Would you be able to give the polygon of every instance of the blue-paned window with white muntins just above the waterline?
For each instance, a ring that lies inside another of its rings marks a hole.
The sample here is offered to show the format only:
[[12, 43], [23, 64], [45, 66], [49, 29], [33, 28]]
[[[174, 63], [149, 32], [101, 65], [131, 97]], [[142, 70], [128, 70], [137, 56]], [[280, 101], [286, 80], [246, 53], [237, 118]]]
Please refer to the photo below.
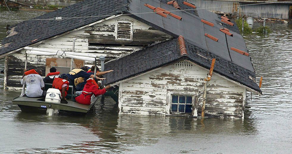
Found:
[[191, 113], [193, 97], [186, 95], [172, 95], [170, 104], [170, 111], [173, 113]]

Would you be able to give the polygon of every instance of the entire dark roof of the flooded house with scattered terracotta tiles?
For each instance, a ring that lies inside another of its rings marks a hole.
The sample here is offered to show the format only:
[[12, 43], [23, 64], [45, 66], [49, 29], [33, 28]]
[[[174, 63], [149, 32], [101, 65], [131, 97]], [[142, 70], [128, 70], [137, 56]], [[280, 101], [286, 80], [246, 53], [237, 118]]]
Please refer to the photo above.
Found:
[[[194, 9], [194, 5], [184, 4], [183, 0], [175, 1], [176, 4], [173, 3], [174, 1], [168, 2], [166, 0], [85, 0], [34, 18], [62, 17], [62, 21], [24, 21], [14, 25], [14, 28], [10, 27], [9, 37], [2, 41], [0, 55], [53, 38], [110, 15], [126, 14], [171, 35], [173, 38], [182, 35], [186, 41], [188, 55], [179, 55], [177, 39], [146, 47], [114, 62], [107, 63], [106, 68], [115, 71], [106, 75], [106, 83], [114, 83], [179, 59], [191, 60], [208, 69], [211, 64], [210, 59], [216, 58], [215, 72], [260, 92], [260, 88], [255, 82], [255, 70], [251, 58], [248, 56], [246, 44], [234, 22], [222, 21], [221, 16], [205, 9], [186, 10]], [[179, 11], [177, 7], [186, 11]], [[161, 10], [166, 12], [161, 13]], [[160, 13], [150, 13], [156, 11]], [[97, 17], [86, 18], [86, 16]], [[69, 17], [84, 18], [64, 19]], [[223, 32], [222, 28], [227, 29], [224, 29], [226, 31]], [[147, 60], [141, 59], [142, 57]], [[131, 60], [131, 58], [134, 59]], [[157, 58], [161, 58], [161, 60], [156, 60]], [[154, 61], [150, 61], [151, 59]], [[127, 64], [127, 60], [135, 61], [135, 64], [139, 63], [141, 66], [145, 66], [143, 62], [147, 62], [147, 66], [143, 68], [133, 66]], [[117, 66], [118, 63], [119, 66]], [[135, 68], [125, 73], [131, 67]]]

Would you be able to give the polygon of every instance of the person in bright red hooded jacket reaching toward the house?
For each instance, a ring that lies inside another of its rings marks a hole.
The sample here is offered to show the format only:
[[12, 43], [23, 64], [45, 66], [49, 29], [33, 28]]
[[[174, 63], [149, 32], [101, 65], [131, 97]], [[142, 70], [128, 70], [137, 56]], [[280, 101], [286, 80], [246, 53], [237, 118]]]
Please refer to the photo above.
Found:
[[103, 95], [104, 93], [106, 93], [106, 90], [110, 88], [110, 86], [107, 85], [103, 89], [98, 89], [99, 87], [97, 85], [97, 82], [98, 80], [96, 78], [87, 80], [87, 83], [81, 91], [81, 94], [75, 97], [76, 102], [84, 105], [90, 105], [91, 96], [93, 94], [94, 96]]

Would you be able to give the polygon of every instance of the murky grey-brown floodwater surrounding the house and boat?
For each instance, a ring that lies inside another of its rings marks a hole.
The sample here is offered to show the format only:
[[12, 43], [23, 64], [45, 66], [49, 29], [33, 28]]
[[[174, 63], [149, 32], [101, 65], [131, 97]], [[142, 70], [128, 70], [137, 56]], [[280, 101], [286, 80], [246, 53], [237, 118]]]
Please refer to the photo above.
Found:
[[[16, 18], [0, 12], [0, 20], [10, 19]], [[0, 40], [6, 24], [0, 23]], [[270, 35], [244, 36], [257, 77], [263, 76], [263, 95], [247, 92], [244, 120], [118, 115], [107, 97], [87, 116], [46, 116], [21, 112], [11, 102], [20, 92], [1, 89], [0, 153], [291, 153], [292, 24], [267, 25]]]

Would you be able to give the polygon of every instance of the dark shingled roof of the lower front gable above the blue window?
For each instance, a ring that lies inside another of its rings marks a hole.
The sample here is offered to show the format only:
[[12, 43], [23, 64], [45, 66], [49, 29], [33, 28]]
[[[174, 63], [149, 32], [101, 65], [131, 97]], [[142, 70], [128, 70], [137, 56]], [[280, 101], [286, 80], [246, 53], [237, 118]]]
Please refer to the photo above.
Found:
[[214, 72], [261, 93], [257, 83], [251, 79], [255, 78], [254, 72], [201, 49], [189, 40], [185, 40], [185, 45], [186, 54], [180, 51], [178, 39], [173, 39], [110, 61], [105, 64], [105, 69], [114, 69], [114, 72], [103, 75], [104, 81], [106, 84], [116, 83], [180, 60], [189, 60], [210, 69], [212, 58], [216, 58]]

